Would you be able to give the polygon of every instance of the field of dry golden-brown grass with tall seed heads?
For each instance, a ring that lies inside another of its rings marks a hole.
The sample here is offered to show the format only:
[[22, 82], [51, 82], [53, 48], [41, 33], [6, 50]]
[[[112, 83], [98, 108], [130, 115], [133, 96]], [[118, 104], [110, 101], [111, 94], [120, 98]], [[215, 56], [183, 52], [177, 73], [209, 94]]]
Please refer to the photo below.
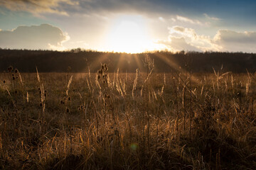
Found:
[[0, 74], [0, 169], [256, 169], [256, 75]]

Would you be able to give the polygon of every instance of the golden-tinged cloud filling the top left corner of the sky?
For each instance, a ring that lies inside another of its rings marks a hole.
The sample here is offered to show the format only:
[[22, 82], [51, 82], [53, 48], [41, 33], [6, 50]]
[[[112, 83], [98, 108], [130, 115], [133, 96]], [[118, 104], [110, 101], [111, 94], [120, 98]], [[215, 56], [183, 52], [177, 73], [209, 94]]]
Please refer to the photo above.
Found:
[[78, 1], [71, 0], [8, 0], [0, 1], [0, 6], [4, 6], [11, 11], [28, 11], [30, 13], [58, 13], [60, 15], [68, 15], [61, 8], [63, 5], [78, 5]]

